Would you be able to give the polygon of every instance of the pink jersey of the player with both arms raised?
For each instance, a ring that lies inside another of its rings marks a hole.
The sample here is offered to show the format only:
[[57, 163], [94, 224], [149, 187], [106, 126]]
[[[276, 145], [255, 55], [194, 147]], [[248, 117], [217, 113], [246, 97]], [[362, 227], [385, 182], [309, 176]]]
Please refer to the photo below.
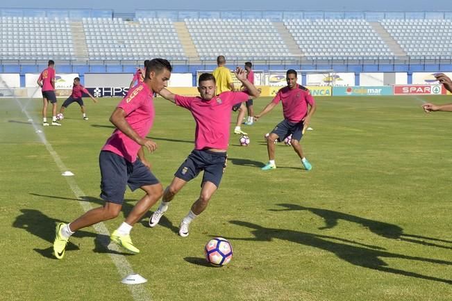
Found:
[[222, 92], [209, 101], [176, 95], [176, 105], [187, 108], [196, 122], [194, 149], [228, 149], [232, 107], [247, 101], [245, 92]]

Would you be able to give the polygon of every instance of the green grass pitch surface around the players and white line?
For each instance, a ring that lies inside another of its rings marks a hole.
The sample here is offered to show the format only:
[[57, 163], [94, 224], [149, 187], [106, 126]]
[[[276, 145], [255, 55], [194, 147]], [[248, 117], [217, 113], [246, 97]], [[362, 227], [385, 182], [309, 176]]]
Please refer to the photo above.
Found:
[[[256, 112], [269, 100], [255, 101]], [[42, 101], [20, 101], [40, 123]], [[92, 206], [103, 204], [98, 154], [118, 101], [86, 101], [89, 121], [74, 104], [62, 127], [43, 129]], [[417, 97], [317, 103], [314, 131], [301, 141], [312, 171], [283, 143], [276, 147], [278, 168], [260, 170], [267, 161], [262, 137], [282, 119], [278, 106], [242, 127], [249, 147], [231, 134], [221, 186], [188, 238], [177, 235], [178, 224], [199, 195], [201, 177], [183, 188], [156, 228], [147, 227], [156, 207], [135, 225], [141, 253], [126, 259], [149, 280], [152, 300], [451, 300], [452, 114], [426, 115]], [[193, 148], [194, 121], [168, 101], [155, 104], [149, 136], [158, 150], [147, 156], [166, 186]], [[0, 112], [0, 299], [133, 300], [94, 228], [71, 238], [62, 261], [53, 258], [56, 222], [83, 209], [15, 102], [0, 99]], [[124, 214], [142, 192], [125, 197]], [[123, 216], [105, 222], [110, 233]], [[203, 259], [214, 236], [233, 245], [224, 268]]]

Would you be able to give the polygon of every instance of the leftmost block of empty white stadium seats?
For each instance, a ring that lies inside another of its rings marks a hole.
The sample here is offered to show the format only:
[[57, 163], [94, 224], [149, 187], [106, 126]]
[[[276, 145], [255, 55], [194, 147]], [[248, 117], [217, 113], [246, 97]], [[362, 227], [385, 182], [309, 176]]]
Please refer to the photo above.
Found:
[[3, 60], [74, 59], [67, 18], [0, 17], [0, 38]]

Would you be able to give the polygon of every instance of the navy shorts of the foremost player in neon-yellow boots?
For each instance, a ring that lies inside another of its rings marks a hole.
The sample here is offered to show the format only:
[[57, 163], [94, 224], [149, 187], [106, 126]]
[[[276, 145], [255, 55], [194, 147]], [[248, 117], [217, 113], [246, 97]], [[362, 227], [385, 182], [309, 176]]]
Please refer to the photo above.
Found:
[[140, 159], [130, 163], [118, 154], [101, 151], [99, 167], [101, 168], [100, 197], [106, 202], [122, 204], [126, 186], [133, 191], [142, 186], [160, 183]]

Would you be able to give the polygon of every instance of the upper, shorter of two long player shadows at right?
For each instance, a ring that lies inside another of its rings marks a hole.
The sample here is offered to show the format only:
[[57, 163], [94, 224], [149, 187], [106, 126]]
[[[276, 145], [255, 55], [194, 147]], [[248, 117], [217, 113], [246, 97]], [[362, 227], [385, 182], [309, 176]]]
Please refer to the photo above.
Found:
[[[368, 220], [367, 218], [360, 218], [359, 216], [332, 211], [328, 209], [319, 209], [300, 206], [297, 204], [278, 204], [278, 206], [283, 206], [285, 209], [270, 209], [270, 211], [310, 211], [325, 221], [324, 227], [319, 227], [319, 229], [332, 229], [337, 226], [339, 220], [345, 220], [347, 222], [354, 222], [355, 224], [362, 225], [369, 229], [372, 233], [383, 236], [385, 238], [399, 239], [401, 241], [408, 241], [410, 243], [417, 243], [419, 245], [427, 245], [431, 247], [440, 247], [443, 249], [452, 250], [452, 247], [446, 245], [439, 245], [437, 243], [431, 243], [431, 241], [441, 242], [441, 243], [452, 243], [452, 241], [446, 241], [440, 238], [431, 238], [427, 236], [419, 236], [413, 234], [406, 234], [403, 229], [397, 225], [388, 224], [387, 222], [379, 222], [377, 220]], [[415, 239], [417, 238], [417, 239]], [[424, 240], [424, 241], [422, 241]]]

